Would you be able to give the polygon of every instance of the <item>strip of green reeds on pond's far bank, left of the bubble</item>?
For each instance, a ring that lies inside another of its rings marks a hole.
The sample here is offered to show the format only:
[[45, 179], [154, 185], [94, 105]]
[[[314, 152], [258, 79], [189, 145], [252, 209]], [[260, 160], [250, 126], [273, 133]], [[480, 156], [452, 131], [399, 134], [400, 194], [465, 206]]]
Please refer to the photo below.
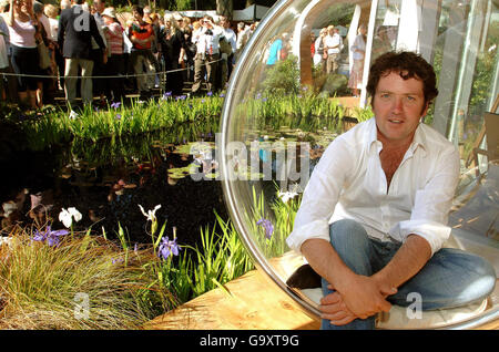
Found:
[[4, 106], [8, 122], [17, 124], [26, 134], [29, 148], [44, 149], [69, 141], [95, 143], [102, 138], [125, 138], [169, 131], [175, 138], [184, 138], [217, 127], [223, 97], [164, 99], [150, 104], [132, 103], [103, 110], [86, 106], [74, 120], [63, 108], [50, 107], [42, 115], [26, 115], [12, 106]]

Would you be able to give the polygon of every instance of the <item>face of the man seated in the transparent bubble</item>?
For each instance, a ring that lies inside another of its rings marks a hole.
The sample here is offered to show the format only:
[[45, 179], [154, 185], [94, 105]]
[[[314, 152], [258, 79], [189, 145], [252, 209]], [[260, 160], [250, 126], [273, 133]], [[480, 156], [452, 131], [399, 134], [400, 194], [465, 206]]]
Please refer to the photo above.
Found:
[[373, 99], [378, 139], [410, 143], [427, 110], [420, 80], [404, 80], [398, 72], [381, 76]]

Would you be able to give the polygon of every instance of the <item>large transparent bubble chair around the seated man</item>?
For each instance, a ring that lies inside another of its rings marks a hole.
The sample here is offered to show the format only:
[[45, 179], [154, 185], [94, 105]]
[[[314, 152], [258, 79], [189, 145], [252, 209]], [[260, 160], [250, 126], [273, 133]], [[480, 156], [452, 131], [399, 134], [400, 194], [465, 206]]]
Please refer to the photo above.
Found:
[[[322, 293], [286, 283], [305, 263], [286, 238], [324, 149], [371, 117], [368, 69], [390, 50], [415, 51], [434, 65], [439, 95], [424, 123], [460, 152], [445, 247], [477, 253], [499, 273], [498, 6], [490, 0], [281, 1], [237, 54], [217, 146], [225, 200], [257, 269], [305, 313], [318, 317]], [[325, 63], [315, 41], [330, 24], [343, 45], [335, 62]], [[352, 86], [349, 49], [360, 25], [366, 28], [365, 63]], [[393, 306], [377, 317], [376, 327], [497, 329], [499, 288], [476, 304], [408, 315], [406, 308]]]

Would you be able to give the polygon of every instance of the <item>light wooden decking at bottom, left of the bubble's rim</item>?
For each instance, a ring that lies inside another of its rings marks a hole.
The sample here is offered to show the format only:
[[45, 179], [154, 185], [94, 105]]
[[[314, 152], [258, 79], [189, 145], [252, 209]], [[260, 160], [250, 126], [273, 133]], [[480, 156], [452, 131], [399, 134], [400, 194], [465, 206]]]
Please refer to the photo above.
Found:
[[252, 270], [192, 301], [155, 318], [150, 330], [318, 330], [291, 297]]

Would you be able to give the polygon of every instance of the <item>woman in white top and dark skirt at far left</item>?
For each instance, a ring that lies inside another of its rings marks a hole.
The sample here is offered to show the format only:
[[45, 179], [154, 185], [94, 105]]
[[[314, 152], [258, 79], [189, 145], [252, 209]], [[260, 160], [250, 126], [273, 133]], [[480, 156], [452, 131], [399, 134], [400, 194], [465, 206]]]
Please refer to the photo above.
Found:
[[[37, 31], [38, 21], [33, 13], [32, 0], [10, 0], [10, 9], [6, 20], [9, 25], [11, 62], [14, 73], [39, 74], [37, 37], [40, 37], [40, 34]], [[21, 104], [37, 108], [37, 77], [18, 76], [18, 92]]]

